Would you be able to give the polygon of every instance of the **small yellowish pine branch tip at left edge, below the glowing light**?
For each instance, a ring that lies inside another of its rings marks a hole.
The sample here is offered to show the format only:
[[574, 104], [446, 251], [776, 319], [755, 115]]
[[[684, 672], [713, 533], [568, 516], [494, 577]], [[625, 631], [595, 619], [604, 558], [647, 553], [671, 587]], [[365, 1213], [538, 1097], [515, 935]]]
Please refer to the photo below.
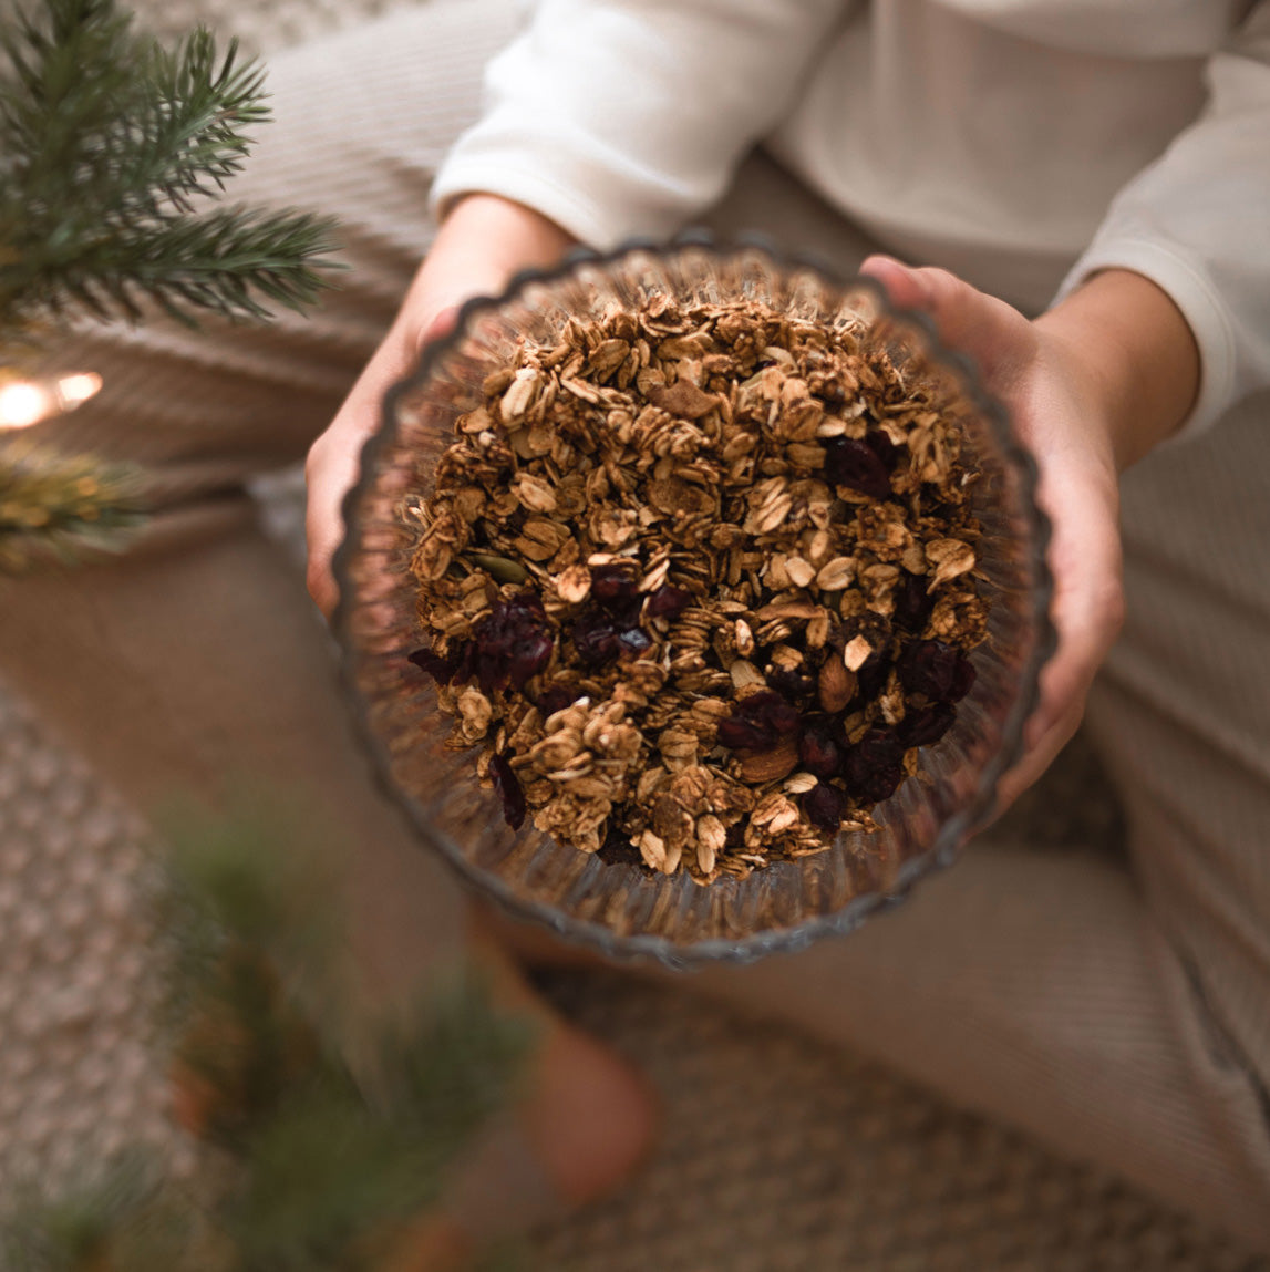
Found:
[[131, 464], [0, 434], [0, 575], [121, 551], [144, 520], [141, 491]]

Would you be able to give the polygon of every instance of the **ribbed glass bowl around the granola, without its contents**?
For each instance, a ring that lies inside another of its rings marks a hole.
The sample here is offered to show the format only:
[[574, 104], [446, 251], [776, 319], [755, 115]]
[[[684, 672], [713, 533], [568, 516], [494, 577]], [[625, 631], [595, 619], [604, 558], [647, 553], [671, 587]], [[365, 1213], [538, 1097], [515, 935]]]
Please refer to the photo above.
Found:
[[[878, 831], [842, 832], [826, 852], [708, 887], [686, 873], [608, 865], [529, 822], [512, 831], [498, 796], [477, 781], [476, 752], [445, 747], [450, 720], [438, 710], [435, 687], [407, 660], [421, 644], [408, 571], [416, 532], [398, 508], [405, 496], [429, 492], [456, 417], [480, 404], [482, 380], [518, 341], [550, 347], [570, 315], [598, 317], [615, 300], [631, 305], [657, 293], [687, 303], [753, 298], [830, 326], [863, 317], [897, 368], [954, 378], [972, 403], [970, 445], [982, 473], [975, 510], [989, 639], [972, 654], [977, 675], [957, 722], [921, 749], [918, 776], [874, 809]], [[345, 501], [335, 563], [346, 684], [373, 762], [420, 836], [513, 915], [610, 957], [671, 967], [792, 950], [895, 904], [915, 880], [953, 861], [989, 818], [998, 778], [1022, 750], [1054, 645], [1049, 522], [1035, 492], [1035, 464], [973, 369], [942, 349], [921, 317], [892, 310], [869, 280], [840, 281], [761, 244], [701, 238], [574, 257], [560, 270], [517, 279], [496, 299], [467, 304], [454, 333], [429, 346], [417, 370], [389, 392]]]

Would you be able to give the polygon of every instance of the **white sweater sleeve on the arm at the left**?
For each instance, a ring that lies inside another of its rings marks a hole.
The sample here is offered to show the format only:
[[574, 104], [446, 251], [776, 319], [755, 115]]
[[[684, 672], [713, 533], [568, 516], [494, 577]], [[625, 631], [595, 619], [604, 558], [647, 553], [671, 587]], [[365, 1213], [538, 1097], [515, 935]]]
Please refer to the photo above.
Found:
[[844, 0], [542, 0], [486, 73], [433, 188], [482, 191], [597, 247], [713, 204], [788, 111]]

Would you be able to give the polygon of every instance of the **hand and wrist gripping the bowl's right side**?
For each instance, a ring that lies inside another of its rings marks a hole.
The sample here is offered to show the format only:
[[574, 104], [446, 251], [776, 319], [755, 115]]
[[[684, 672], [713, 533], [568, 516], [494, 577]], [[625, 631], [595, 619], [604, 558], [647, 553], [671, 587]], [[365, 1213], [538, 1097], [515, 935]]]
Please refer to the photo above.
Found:
[[1040, 467], [1059, 645], [1041, 673], [1023, 758], [998, 787], [1004, 810], [1075, 733], [1120, 631], [1119, 473], [1185, 418], [1199, 354], [1172, 300], [1129, 271], [1094, 276], [1035, 322], [944, 270], [874, 256], [860, 272], [897, 307], [928, 313], [940, 340], [977, 363]]

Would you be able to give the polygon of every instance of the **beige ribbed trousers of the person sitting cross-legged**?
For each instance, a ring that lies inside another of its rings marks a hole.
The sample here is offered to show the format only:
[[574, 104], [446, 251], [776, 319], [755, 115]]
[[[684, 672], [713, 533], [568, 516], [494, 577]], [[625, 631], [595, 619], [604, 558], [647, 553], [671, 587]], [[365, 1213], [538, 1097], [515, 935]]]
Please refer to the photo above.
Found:
[[[515, 11], [434, 0], [274, 60], [276, 122], [233, 195], [337, 215], [342, 290], [265, 332], [111, 328], [60, 350], [106, 388], [42, 431], [150, 463], [164, 510], [125, 560], [0, 593], [0, 675], [139, 806], [230, 772], [305, 786], [358, 843], [361, 948], [386, 977], [454, 948], [457, 889], [374, 789], [327, 637], [242, 487], [303, 455], [387, 327]], [[764, 159], [713, 223], [844, 268], [867, 248]], [[858, 934], [694, 983], [1270, 1249], [1267, 426], [1251, 403], [1125, 482], [1129, 623], [1091, 720], [1127, 859], [975, 845]]]

